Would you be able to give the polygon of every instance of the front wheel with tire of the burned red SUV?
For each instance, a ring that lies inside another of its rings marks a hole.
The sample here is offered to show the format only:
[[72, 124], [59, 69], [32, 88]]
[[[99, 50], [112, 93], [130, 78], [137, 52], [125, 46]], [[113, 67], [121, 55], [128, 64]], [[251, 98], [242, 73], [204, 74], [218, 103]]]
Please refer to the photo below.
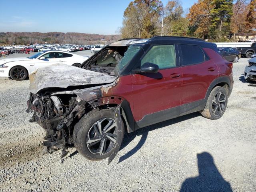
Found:
[[[118, 144], [118, 138], [114, 137], [114, 135], [117, 132], [117, 127], [113, 127], [110, 129], [107, 133], [101, 133], [99, 135], [99, 128], [97, 122], [102, 122], [100, 123], [101, 125], [106, 125], [109, 120], [114, 120], [114, 111], [110, 109], [102, 109], [102, 110], [93, 110], [89, 112], [87, 115], [83, 116], [78, 123], [76, 123], [74, 132], [73, 132], [73, 141], [74, 141], [74, 146], [76, 150], [80, 154], [82, 154], [85, 158], [89, 160], [102, 160], [105, 158], [108, 158], [112, 152], [115, 150], [117, 144]], [[113, 122], [112, 122], [113, 124]], [[110, 126], [112, 125], [110, 124]], [[96, 128], [94, 128], [96, 126]], [[109, 126], [109, 127], [110, 127]], [[98, 133], [96, 132], [98, 131]], [[111, 135], [110, 135], [111, 134]], [[122, 123], [122, 130], [121, 130], [121, 142], [124, 137], [124, 124]], [[111, 138], [116, 139], [116, 142], [113, 142], [109, 139], [109, 136]], [[96, 142], [91, 142], [89, 138], [97, 138]], [[99, 139], [98, 139], [99, 138]], [[105, 144], [105, 148], [101, 150], [102, 144]], [[92, 146], [90, 146], [93, 144]], [[121, 143], [120, 143], [121, 145]], [[104, 151], [105, 149], [105, 151]], [[101, 153], [101, 154], [100, 154]]]

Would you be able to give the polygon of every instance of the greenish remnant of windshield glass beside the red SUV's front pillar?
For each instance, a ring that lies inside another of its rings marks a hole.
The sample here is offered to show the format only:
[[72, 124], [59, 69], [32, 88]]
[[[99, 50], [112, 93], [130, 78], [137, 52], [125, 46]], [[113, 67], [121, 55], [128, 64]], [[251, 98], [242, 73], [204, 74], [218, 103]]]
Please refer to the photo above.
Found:
[[124, 57], [118, 64], [116, 65], [115, 71], [118, 72], [122, 70], [129, 62], [132, 60], [132, 58], [138, 53], [138, 51], [141, 49], [139, 46], [131, 45], [128, 47], [127, 51], [124, 53]]

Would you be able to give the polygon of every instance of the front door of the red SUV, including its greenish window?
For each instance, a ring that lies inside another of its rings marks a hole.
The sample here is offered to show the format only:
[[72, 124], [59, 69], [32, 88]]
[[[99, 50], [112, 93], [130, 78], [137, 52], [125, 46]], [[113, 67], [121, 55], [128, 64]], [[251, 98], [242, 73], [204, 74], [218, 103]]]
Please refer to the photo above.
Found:
[[132, 74], [134, 119], [139, 127], [177, 117], [180, 113], [182, 73], [174, 45], [154, 45], [144, 54], [159, 66], [157, 73]]

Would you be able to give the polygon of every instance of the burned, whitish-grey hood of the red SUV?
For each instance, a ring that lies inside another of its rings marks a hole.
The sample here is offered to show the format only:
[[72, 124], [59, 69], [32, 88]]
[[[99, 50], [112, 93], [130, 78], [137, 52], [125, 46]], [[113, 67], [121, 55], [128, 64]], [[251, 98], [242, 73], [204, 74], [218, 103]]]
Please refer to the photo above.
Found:
[[45, 88], [67, 88], [68, 86], [82, 86], [89, 84], [108, 84], [116, 80], [116, 76], [85, 70], [66, 65], [53, 64], [39, 68], [30, 74], [30, 92], [36, 94]]

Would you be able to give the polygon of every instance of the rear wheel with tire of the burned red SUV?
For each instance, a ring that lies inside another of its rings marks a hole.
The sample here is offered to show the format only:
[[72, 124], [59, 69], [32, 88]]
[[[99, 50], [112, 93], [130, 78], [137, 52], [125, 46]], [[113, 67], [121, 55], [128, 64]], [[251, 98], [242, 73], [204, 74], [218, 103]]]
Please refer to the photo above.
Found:
[[[220, 97], [219, 97], [220, 94]], [[206, 106], [201, 112], [202, 116], [208, 119], [219, 119], [225, 112], [228, 104], [227, 91], [220, 86], [216, 86], [210, 92]]]

